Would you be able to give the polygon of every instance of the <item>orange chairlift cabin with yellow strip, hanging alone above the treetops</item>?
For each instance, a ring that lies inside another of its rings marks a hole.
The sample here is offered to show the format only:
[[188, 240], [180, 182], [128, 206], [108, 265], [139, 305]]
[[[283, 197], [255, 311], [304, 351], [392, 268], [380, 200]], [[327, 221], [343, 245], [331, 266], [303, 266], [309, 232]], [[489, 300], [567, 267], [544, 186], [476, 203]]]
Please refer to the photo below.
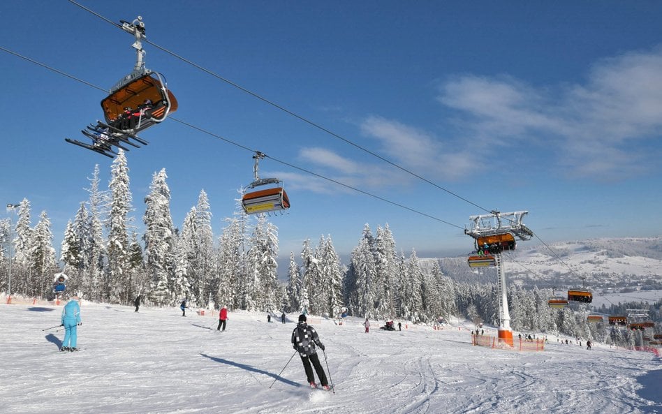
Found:
[[[290, 199], [285, 192], [283, 182], [277, 178], [260, 178], [258, 175], [258, 163], [265, 158], [265, 154], [256, 151], [253, 155], [253, 182], [242, 196], [242, 207], [246, 214], [258, 214], [277, 212], [290, 208]], [[263, 188], [266, 186], [265, 188]], [[260, 188], [260, 189], [257, 189]]]

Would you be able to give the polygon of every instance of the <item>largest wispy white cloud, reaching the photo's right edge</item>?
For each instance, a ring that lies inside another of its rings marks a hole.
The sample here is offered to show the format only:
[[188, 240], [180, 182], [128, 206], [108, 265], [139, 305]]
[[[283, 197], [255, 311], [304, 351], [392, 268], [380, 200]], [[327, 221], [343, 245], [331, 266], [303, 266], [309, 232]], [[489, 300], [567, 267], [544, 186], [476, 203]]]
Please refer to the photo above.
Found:
[[[533, 87], [512, 77], [455, 77], [439, 102], [459, 111], [459, 128], [492, 148], [545, 140], [547, 156], [573, 175], [624, 177], [654, 156], [640, 142], [662, 132], [662, 50], [599, 61], [583, 84]], [[651, 163], [649, 163], [650, 165]]]

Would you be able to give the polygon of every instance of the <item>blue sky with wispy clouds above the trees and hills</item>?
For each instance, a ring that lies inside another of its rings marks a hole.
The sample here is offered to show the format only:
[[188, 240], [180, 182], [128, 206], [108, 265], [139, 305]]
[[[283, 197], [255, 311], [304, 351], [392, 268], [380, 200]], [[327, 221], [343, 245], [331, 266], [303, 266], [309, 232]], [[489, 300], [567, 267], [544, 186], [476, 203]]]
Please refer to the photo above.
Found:
[[[345, 255], [365, 223], [388, 223], [406, 254], [468, 252], [462, 228], [483, 209], [528, 210], [545, 242], [661, 234], [660, 2], [81, 4], [114, 22], [142, 15], [156, 45], [461, 197], [146, 43], [174, 117], [273, 158], [260, 176], [284, 179], [292, 203], [271, 219], [281, 256], [321, 235]], [[1, 47], [90, 84], [133, 68], [133, 38], [69, 1], [5, 2], [0, 15]], [[59, 246], [94, 165], [110, 178], [110, 158], [64, 142], [102, 117], [105, 94], [7, 52], [0, 67], [0, 201], [30, 200], [33, 225], [46, 210]], [[165, 168], [175, 223], [204, 189], [220, 235], [251, 152], [172, 119], [141, 137], [127, 154], [135, 225]]]

